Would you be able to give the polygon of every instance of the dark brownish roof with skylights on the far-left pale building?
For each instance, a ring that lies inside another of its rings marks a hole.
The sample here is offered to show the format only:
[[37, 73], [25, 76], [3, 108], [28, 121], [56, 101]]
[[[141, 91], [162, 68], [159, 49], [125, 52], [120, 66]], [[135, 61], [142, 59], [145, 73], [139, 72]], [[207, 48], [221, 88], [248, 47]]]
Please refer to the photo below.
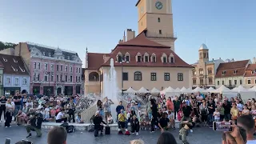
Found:
[[0, 54], [0, 62], [2, 62], [4, 66], [3, 71], [5, 74], [29, 75], [21, 57], [14, 56], [14, 55]]

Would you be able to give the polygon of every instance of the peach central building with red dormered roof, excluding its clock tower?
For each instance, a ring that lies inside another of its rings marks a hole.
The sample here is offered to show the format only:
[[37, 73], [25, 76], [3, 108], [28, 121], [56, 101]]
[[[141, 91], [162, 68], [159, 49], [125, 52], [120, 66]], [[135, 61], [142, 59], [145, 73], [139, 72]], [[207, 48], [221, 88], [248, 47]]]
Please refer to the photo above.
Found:
[[103, 75], [110, 70], [114, 59], [120, 90], [144, 86], [158, 90], [166, 86], [192, 86], [190, 66], [170, 46], [163, 46], [146, 38], [144, 32], [127, 42], [119, 43], [110, 54], [86, 53], [85, 93], [102, 93]]

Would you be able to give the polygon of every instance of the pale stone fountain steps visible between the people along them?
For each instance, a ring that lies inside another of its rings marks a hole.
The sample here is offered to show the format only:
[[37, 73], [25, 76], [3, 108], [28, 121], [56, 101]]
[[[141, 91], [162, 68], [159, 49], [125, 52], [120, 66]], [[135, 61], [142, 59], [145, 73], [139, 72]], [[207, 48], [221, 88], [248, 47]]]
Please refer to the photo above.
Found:
[[[175, 120], [175, 123], [177, 125], [178, 120]], [[56, 123], [56, 122], [43, 122], [42, 123], [42, 129], [50, 129], [53, 126], [60, 126], [62, 123]], [[69, 123], [70, 125], [73, 125], [75, 130], [77, 131], [84, 131], [84, 130], [89, 130], [90, 126], [92, 126], [92, 124], [90, 123]], [[118, 124], [114, 123], [114, 124], [110, 124], [110, 129], [111, 130], [118, 130]], [[130, 123], [128, 124], [128, 126], [130, 127]]]

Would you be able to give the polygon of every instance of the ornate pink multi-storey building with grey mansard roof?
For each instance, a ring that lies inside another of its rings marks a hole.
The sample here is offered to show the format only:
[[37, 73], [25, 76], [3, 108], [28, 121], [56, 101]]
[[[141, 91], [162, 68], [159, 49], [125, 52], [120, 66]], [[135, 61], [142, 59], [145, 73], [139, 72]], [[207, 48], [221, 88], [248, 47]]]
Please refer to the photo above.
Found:
[[30, 69], [31, 94], [81, 94], [82, 61], [77, 53], [20, 42], [15, 55]]

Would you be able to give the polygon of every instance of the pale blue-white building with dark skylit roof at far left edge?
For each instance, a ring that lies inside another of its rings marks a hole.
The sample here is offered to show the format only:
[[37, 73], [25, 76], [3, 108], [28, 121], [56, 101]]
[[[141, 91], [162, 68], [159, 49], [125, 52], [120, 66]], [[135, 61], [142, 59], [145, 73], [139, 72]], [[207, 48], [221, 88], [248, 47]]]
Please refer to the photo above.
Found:
[[30, 91], [30, 74], [21, 57], [14, 55], [0, 54], [2, 63], [3, 94], [6, 96], [16, 93], [26, 93]]

